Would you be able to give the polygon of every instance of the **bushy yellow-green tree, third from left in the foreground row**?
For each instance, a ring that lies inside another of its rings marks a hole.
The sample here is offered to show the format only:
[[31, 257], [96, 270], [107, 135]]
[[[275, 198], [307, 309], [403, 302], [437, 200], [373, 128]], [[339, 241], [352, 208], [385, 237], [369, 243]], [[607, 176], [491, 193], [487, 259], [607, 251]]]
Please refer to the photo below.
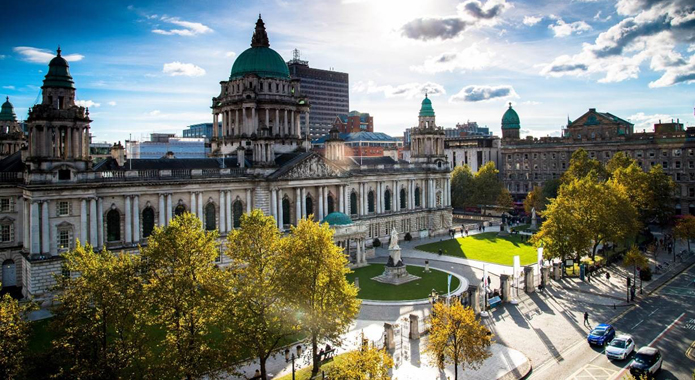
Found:
[[224, 369], [219, 321], [224, 271], [215, 265], [217, 232], [206, 232], [192, 214], [155, 228], [142, 250], [147, 263], [145, 299], [148, 323], [164, 331], [159, 344], [162, 377], [198, 378]]

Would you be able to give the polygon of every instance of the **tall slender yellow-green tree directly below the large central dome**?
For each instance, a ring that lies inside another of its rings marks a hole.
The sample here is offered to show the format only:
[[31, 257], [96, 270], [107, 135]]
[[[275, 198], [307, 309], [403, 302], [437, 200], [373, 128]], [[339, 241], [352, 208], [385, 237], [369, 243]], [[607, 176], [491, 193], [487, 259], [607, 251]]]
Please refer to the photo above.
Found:
[[293, 277], [282, 272], [288, 259], [282, 240], [275, 219], [261, 210], [242, 215], [241, 228], [227, 237], [229, 292], [234, 293], [226, 297], [226, 314], [232, 316], [227, 336], [232, 337], [230, 346], [246, 347], [258, 358], [263, 379], [270, 355], [298, 329], [283, 294]]

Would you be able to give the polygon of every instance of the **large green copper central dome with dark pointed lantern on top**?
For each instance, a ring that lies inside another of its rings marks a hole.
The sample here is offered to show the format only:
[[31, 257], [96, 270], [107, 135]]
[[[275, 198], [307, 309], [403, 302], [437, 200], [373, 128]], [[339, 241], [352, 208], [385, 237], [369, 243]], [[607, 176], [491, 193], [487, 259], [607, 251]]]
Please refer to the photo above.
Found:
[[262, 78], [289, 79], [290, 70], [280, 54], [270, 48], [265, 24], [260, 15], [256, 21], [251, 47], [239, 54], [232, 65], [229, 80], [243, 78], [246, 74], [256, 74]]

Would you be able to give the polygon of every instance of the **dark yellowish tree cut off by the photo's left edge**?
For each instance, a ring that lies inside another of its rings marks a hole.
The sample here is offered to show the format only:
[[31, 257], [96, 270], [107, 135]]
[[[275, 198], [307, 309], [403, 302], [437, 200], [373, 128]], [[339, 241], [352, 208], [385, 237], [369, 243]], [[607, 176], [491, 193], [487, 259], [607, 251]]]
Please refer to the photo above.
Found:
[[[1, 284], [0, 284], [1, 285]], [[9, 294], [0, 297], [0, 378], [15, 379], [24, 365], [31, 328], [25, 313], [33, 304], [20, 305]]]

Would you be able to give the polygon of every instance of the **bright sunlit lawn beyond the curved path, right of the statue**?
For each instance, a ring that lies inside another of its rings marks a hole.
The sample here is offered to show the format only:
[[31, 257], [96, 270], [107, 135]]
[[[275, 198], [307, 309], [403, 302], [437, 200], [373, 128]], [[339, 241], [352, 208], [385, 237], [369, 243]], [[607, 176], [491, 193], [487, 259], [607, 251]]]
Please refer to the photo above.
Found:
[[497, 236], [497, 232], [484, 232], [464, 238], [424, 244], [417, 246], [416, 249], [432, 253], [439, 253], [441, 249], [445, 255], [508, 266], [514, 265], [516, 255], [519, 256], [521, 265], [533, 264], [538, 258], [536, 248], [522, 241], [519, 235], [501, 237]]

